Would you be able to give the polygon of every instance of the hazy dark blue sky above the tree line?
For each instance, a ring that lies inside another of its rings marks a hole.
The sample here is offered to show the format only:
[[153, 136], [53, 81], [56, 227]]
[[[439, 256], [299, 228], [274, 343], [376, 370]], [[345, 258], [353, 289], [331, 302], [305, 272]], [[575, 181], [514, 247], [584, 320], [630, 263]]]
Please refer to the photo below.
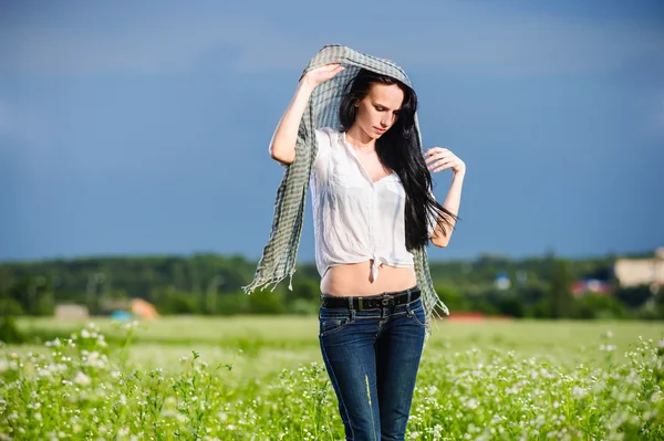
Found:
[[401, 64], [425, 147], [467, 164], [432, 260], [664, 245], [662, 1], [4, 1], [0, 260], [258, 259], [268, 143], [329, 43]]

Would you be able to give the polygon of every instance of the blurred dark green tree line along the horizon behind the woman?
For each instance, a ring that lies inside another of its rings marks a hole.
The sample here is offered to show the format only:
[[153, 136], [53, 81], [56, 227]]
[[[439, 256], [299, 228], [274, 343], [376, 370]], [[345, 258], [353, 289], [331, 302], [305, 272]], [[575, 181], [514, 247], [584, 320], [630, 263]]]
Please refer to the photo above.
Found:
[[[622, 255], [625, 256], [625, 255]], [[649, 254], [633, 254], [645, 258]], [[548, 253], [513, 260], [483, 254], [475, 260], [430, 262], [434, 285], [452, 314], [532, 318], [664, 318], [664, 292], [651, 286], [621, 287], [615, 255], [570, 260]], [[75, 303], [90, 314], [108, 314], [117, 301], [143, 298], [168, 314], [315, 314], [315, 265], [300, 263], [273, 291], [247, 295], [256, 262], [243, 256], [117, 256], [0, 263], [0, 315], [52, 315], [55, 305]], [[497, 282], [497, 277], [501, 282]], [[574, 281], [592, 277], [605, 294], [573, 296]]]

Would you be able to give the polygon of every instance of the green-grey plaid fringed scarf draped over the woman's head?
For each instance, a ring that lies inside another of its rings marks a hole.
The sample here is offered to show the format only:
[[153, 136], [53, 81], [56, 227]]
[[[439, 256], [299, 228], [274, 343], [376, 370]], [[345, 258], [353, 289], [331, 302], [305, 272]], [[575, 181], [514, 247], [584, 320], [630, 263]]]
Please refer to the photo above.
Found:
[[[292, 291], [292, 276], [295, 272], [295, 258], [300, 244], [302, 223], [304, 218], [304, 203], [313, 160], [318, 151], [314, 129], [321, 127], [333, 127], [339, 129], [339, 105], [344, 93], [345, 85], [352, 80], [360, 69], [366, 69], [380, 74], [392, 76], [411, 86], [411, 81], [405, 72], [390, 60], [366, 55], [339, 44], [325, 45], [309, 62], [304, 73], [320, 67], [324, 64], [342, 63], [345, 67], [332, 78], [319, 84], [304, 109], [298, 140], [295, 144], [295, 159], [286, 167], [284, 176], [277, 190], [274, 202], [274, 218], [268, 244], [263, 249], [262, 256], [256, 270], [256, 276], [251, 284], [243, 286], [247, 294], [251, 294], [257, 287], [272, 284], [272, 291], [279, 282], [290, 276], [289, 290]], [[422, 137], [417, 115], [415, 115], [415, 132], [417, 134], [417, 148], [422, 149]], [[426, 248], [414, 250], [415, 275], [422, 291], [422, 301], [426, 316], [426, 337], [432, 334], [432, 318], [439, 306], [445, 314], [449, 314], [447, 306], [436, 294], [428, 269]]]

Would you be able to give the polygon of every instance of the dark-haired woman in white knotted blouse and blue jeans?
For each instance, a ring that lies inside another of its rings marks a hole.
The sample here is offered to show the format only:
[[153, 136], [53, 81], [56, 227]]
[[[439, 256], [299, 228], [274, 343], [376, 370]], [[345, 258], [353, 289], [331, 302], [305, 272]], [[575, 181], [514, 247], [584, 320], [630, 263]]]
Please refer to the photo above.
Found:
[[[300, 120], [314, 90], [344, 67], [308, 71], [279, 122], [273, 159], [295, 160]], [[311, 171], [319, 340], [347, 440], [403, 440], [425, 340], [425, 312], [411, 250], [446, 246], [465, 164], [452, 151], [413, 146], [415, 92], [361, 69], [339, 107], [341, 128], [315, 129]], [[442, 206], [429, 170], [452, 169]]]

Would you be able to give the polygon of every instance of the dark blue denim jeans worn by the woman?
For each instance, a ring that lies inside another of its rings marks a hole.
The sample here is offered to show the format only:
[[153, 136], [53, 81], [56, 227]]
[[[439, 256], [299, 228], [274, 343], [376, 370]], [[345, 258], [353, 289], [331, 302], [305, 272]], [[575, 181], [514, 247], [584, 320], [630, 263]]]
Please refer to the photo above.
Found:
[[346, 440], [404, 440], [424, 345], [422, 298], [363, 311], [321, 306], [319, 322]]

